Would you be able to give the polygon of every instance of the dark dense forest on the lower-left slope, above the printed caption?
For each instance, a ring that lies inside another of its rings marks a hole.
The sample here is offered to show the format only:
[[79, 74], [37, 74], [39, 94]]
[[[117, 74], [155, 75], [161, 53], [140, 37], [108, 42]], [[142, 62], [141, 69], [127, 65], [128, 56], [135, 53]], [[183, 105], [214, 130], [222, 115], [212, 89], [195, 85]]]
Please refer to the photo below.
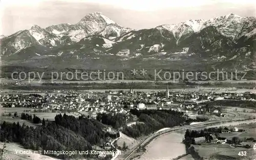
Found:
[[[75, 118], [64, 114], [56, 115], [55, 122], [47, 121], [45, 125], [36, 128], [19, 123], [3, 122], [0, 130], [1, 142], [20, 143], [26, 149], [32, 150], [64, 150], [86, 151], [92, 150], [93, 145], [101, 145], [106, 137], [119, 137], [110, 135], [102, 130], [103, 124], [97, 120], [85, 117]], [[43, 151], [42, 151], [43, 153]], [[60, 159], [95, 155], [49, 155]]]

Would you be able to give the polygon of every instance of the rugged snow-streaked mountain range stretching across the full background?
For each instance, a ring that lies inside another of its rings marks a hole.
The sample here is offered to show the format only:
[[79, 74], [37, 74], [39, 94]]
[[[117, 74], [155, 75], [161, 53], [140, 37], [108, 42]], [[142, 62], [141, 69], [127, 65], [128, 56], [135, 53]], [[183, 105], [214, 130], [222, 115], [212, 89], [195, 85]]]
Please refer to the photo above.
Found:
[[1, 65], [40, 68], [256, 68], [256, 18], [228, 14], [133, 30], [100, 12], [1, 36]]

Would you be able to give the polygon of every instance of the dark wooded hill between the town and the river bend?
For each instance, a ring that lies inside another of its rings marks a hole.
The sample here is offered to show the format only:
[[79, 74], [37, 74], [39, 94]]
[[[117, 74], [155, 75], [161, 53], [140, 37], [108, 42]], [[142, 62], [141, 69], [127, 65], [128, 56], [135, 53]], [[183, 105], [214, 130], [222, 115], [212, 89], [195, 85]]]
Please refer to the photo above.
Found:
[[[98, 114], [97, 120], [103, 124], [111, 125], [113, 128], [122, 128], [127, 136], [138, 138], [143, 135], [149, 135], [152, 132], [164, 127], [173, 127], [183, 125], [190, 121], [183, 116], [183, 113], [170, 110], [137, 110], [132, 109], [130, 113], [137, 116], [139, 123], [132, 126], [126, 126], [131, 122], [129, 116], [125, 114]], [[198, 118], [196, 121], [205, 121], [207, 119]]]

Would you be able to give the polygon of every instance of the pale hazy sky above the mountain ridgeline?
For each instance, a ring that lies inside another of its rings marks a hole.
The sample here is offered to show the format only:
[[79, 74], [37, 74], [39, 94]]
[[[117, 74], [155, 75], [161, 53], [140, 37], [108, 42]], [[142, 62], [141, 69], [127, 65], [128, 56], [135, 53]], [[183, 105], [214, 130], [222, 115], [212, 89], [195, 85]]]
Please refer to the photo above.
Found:
[[189, 19], [234, 13], [256, 16], [256, 0], [1, 0], [0, 35], [30, 29], [33, 24], [77, 23], [91, 12], [102, 12], [122, 26], [149, 29]]

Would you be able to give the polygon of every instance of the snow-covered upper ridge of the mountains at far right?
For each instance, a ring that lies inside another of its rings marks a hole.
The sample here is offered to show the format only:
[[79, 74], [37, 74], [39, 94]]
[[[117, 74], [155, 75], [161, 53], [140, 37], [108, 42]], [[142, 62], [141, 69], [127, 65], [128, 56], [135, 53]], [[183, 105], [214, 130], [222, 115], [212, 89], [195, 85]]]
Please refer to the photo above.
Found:
[[[199, 20], [187, 20], [178, 24], [171, 25], [160, 25], [156, 29], [168, 30], [173, 32], [175, 38], [178, 39], [184, 33], [191, 32], [193, 30], [195, 33], [202, 31], [208, 26], [215, 26], [219, 32], [224, 36], [231, 39], [239, 39], [246, 33], [251, 32], [255, 28], [255, 19], [252, 17], [240, 17], [239, 15], [230, 13], [224, 16], [219, 16], [211, 18], [209, 20], [199, 19]], [[190, 30], [190, 29], [191, 30]]]

